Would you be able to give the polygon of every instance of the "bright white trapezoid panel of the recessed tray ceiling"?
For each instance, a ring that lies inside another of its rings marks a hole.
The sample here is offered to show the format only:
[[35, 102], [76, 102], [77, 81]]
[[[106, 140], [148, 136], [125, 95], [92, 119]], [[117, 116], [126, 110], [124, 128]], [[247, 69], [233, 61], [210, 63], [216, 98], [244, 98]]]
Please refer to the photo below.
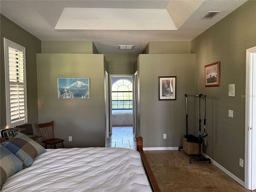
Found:
[[166, 9], [64, 8], [55, 29], [177, 30]]

